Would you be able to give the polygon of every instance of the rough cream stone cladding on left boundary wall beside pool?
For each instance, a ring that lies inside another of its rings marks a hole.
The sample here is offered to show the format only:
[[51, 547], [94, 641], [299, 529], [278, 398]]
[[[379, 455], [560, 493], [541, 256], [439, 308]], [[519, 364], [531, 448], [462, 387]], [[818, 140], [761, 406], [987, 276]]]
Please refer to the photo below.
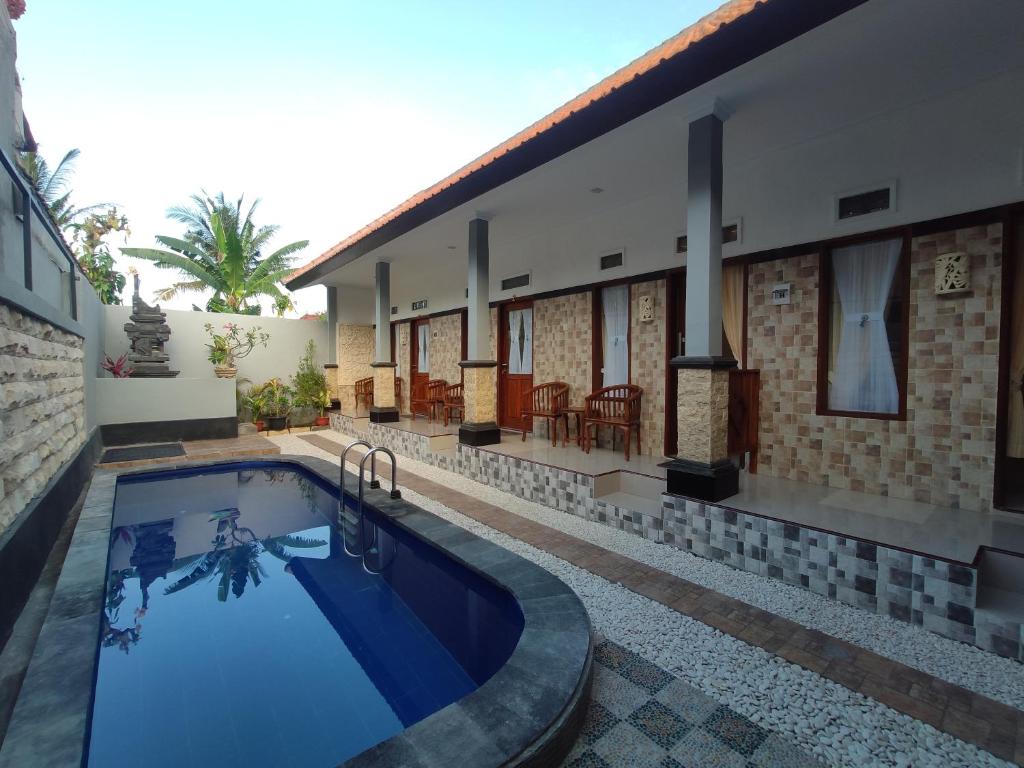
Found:
[[82, 340], [0, 303], [0, 532], [85, 441]]

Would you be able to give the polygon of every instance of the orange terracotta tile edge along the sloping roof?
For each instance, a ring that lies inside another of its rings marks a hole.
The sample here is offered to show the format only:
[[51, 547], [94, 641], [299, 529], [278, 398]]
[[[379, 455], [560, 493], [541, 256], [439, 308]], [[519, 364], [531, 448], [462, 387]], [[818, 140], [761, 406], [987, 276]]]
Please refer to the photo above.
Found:
[[294, 272], [289, 275], [287, 282], [291, 282], [301, 274], [312, 269], [314, 266], [324, 263], [325, 261], [333, 258], [339, 253], [351, 248], [353, 245], [358, 243], [360, 240], [369, 236], [370, 233], [380, 229], [382, 226], [390, 221], [393, 221], [398, 216], [407, 213], [430, 198], [434, 197], [438, 193], [446, 189], [453, 184], [458, 183], [467, 176], [475, 173], [481, 168], [495, 162], [497, 159], [501, 158], [503, 155], [516, 150], [523, 144], [525, 144], [530, 139], [536, 138], [552, 127], [558, 125], [573, 113], [583, 110], [590, 104], [598, 101], [609, 93], [614, 91], [616, 88], [625, 85], [636, 77], [644, 75], [651, 70], [656, 69], [659, 65], [665, 62], [667, 59], [672, 58], [678, 53], [686, 50], [695, 43], [714, 35], [719, 29], [725, 27], [732, 22], [735, 22], [740, 16], [750, 13], [757, 5], [769, 2], [769, 0], [728, 0], [724, 5], [712, 11], [708, 15], [703, 16], [695, 24], [690, 25], [678, 35], [675, 35], [668, 40], [666, 40], [660, 45], [651, 48], [649, 51], [644, 53], [639, 58], [634, 59], [630, 63], [623, 67], [617, 72], [612, 73], [604, 80], [600, 81], [596, 85], [587, 89], [581, 93], [575, 98], [566, 101], [564, 104], [559, 106], [557, 110], [551, 114], [541, 118], [532, 125], [524, 128], [523, 130], [516, 133], [511, 138], [503, 141], [498, 146], [494, 147], [489, 152], [484, 153], [480, 157], [471, 161], [470, 163], [464, 165], [462, 168], [457, 170], [455, 173], [444, 177], [436, 184], [417, 193], [404, 203], [392, 208], [390, 211], [385, 213], [383, 216], [378, 217], [374, 221], [370, 222], [361, 229], [353, 232], [352, 234], [345, 238], [334, 247], [328, 249], [323, 254], [317, 256], [315, 259], [299, 267]]

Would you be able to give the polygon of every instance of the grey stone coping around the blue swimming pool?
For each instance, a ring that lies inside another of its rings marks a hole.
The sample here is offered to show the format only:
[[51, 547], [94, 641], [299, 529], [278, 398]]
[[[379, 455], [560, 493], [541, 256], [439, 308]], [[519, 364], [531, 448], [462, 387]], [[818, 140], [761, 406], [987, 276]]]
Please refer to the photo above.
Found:
[[[0, 768], [83, 765], [118, 478], [254, 463], [293, 465], [338, 485], [337, 465], [295, 455], [95, 470], [0, 744]], [[346, 470], [346, 488], [356, 482]], [[524, 626], [512, 655], [490, 680], [343, 765], [558, 765], [579, 734], [590, 698], [594, 644], [580, 598], [536, 563], [408, 501], [392, 500], [386, 490], [368, 487], [366, 501], [412, 536], [508, 590]]]

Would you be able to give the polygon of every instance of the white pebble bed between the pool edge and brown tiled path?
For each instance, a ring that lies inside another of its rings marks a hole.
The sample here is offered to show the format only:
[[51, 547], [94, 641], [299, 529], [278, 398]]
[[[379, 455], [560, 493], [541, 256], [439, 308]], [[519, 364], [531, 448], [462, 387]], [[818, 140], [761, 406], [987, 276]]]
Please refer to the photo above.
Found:
[[[302, 440], [284, 437], [274, 441], [290, 453], [337, 461]], [[443, 479], [452, 484], [452, 477]], [[580, 596], [597, 632], [782, 734], [827, 765], [1009, 765], [973, 744], [496, 531], [432, 499], [408, 488], [402, 488], [402, 495], [551, 571]]]

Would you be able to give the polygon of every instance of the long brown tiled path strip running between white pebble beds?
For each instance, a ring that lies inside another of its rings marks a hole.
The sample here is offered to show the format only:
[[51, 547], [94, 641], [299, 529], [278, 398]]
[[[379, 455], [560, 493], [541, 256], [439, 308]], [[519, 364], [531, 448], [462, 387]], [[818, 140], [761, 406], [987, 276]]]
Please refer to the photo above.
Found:
[[[341, 444], [322, 435], [302, 439], [335, 456]], [[357, 460], [356, 451], [352, 459]], [[398, 482], [503, 534], [515, 537], [703, 624], [859, 691], [1004, 760], [1024, 764], [1024, 712], [947, 683], [817, 630], [609, 552], [399, 470]]]

